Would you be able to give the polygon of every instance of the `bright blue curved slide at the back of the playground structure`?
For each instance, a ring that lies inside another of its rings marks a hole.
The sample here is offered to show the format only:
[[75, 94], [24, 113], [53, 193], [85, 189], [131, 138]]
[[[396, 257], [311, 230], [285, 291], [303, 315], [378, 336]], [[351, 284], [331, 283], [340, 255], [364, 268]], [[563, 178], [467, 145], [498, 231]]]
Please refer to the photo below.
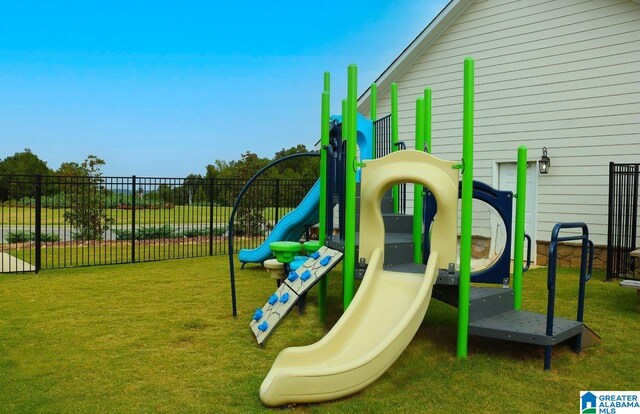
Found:
[[320, 206], [320, 180], [302, 199], [298, 207], [287, 213], [273, 228], [269, 237], [255, 249], [242, 249], [238, 254], [241, 263], [262, 263], [273, 257], [269, 245], [275, 241], [298, 241], [306, 226], [318, 223]]

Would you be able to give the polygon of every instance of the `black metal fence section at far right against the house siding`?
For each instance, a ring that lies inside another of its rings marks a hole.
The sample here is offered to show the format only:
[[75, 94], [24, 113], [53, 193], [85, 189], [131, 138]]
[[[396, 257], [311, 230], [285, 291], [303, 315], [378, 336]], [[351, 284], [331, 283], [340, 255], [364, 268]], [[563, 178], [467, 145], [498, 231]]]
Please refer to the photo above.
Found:
[[640, 164], [609, 163], [607, 279], [640, 279], [637, 246]]

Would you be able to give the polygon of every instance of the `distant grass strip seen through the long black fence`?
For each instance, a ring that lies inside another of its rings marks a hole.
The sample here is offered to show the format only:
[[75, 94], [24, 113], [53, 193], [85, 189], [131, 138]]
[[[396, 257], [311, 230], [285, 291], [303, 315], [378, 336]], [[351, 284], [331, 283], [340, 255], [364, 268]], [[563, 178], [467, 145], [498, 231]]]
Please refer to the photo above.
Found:
[[[279, 216], [287, 214], [293, 207], [280, 207]], [[17, 230], [22, 230], [22, 226], [35, 225], [36, 210], [29, 207], [9, 207], [0, 208], [2, 212], [3, 226], [20, 226]], [[42, 209], [42, 225], [64, 225], [64, 213], [68, 209]], [[117, 208], [106, 209], [106, 216], [115, 220], [116, 225], [131, 223], [132, 210]], [[226, 225], [231, 214], [231, 207], [214, 206], [213, 221]], [[275, 218], [275, 207], [264, 209], [264, 216], [272, 220]], [[140, 226], [164, 224], [164, 223], [208, 223], [210, 208], [208, 206], [175, 206], [173, 208], [153, 208], [136, 210], [136, 222]], [[8, 230], [12, 230], [8, 228]]]

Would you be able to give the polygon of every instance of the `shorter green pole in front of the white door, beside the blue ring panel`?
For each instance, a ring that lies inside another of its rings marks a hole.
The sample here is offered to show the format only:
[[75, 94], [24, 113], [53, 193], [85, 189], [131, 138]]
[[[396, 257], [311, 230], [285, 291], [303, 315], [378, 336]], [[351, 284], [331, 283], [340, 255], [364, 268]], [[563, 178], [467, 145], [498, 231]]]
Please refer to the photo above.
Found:
[[524, 249], [524, 216], [527, 203], [527, 147], [518, 147], [516, 183], [516, 229], [513, 241], [513, 306], [522, 306], [522, 255]]

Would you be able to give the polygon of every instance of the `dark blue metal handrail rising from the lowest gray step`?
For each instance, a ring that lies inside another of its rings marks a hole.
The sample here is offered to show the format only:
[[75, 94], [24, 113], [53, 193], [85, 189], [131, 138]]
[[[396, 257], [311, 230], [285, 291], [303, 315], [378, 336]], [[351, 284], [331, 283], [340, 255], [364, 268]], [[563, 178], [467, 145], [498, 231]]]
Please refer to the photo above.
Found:
[[[581, 229], [581, 235], [560, 237], [562, 229]], [[551, 243], [549, 244], [549, 268], [547, 272], [547, 290], [549, 297], [547, 300], [547, 326], [546, 335], [553, 336], [553, 318], [556, 300], [556, 271], [558, 261], [558, 243], [561, 241], [582, 241], [582, 252], [580, 258], [580, 287], [578, 290], [578, 312], [576, 321], [582, 322], [584, 317], [584, 295], [586, 282], [591, 277], [593, 269], [593, 243], [589, 240], [589, 228], [585, 223], [558, 223], [551, 232]], [[587, 264], [588, 263], [588, 264]], [[588, 270], [587, 270], [588, 267]], [[577, 351], [582, 347], [582, 335], [579, 335], [575, 348]], [[545, 347], [544, 369], [551, 369], [551, 349], [552, 346]]]

